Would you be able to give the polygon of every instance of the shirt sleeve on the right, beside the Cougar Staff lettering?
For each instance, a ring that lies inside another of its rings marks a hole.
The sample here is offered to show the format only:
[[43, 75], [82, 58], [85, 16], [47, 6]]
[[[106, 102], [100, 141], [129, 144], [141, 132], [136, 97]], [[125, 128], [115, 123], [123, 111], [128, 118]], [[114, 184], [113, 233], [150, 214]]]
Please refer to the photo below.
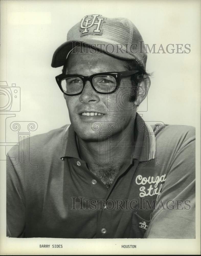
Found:
[[151, 217], [144, 238], [195, 238], [194, 128], [172, 159]]

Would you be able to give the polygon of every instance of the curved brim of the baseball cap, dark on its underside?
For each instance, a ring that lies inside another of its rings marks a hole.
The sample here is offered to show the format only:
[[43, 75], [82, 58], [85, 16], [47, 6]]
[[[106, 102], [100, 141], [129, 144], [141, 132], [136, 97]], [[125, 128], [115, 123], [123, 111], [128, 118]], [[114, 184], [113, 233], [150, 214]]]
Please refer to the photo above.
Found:
[[[105, 52], [106, 54], [112, 55], [119, 59], [127, 59], [127, 60], [134, 60], [136, 59], [134, 56], [130, 55], [124, 49], [121, 49], [120, 44], [110, 44], [105, 41], [93, 40], [88, 39], [85, 41], [67, 41], [60, 45], [54, 52], [52, 57], [51, 66], [53, 68], [61, 67], [64, 65], [66, 61], [66, 57], [68, 56], [69, 52], [75, 48], [76, 46], [80, 46], [81, 44], [90, 45], [92, 48], [96, 48], [100, 51]], [[90, 51], [87, 51], [90, 52]], [[92, 51], [94, 52], [94, 51]]]

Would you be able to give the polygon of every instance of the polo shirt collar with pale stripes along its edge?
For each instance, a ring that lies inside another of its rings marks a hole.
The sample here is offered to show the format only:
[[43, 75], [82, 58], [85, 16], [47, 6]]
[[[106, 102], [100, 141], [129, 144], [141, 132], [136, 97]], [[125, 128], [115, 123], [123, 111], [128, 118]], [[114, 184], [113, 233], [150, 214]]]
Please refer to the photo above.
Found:
[[[64, 157], [80, 158], [76, 144], [76, 133], [72, 125], [67, 125], [64, 130], [61, 159], [63, 160]], [[154, 157], [155, 135], [153, 129], [137, 113], [133, 129], [132, 158], [144, 162], [154, 159]]]

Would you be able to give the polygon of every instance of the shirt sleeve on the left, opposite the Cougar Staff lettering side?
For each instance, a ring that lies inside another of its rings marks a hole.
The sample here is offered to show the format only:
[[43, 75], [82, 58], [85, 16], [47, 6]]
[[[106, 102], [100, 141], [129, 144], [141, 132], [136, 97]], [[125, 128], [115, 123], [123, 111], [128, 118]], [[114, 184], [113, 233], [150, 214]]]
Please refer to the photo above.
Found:
[[12, 161], [8, 155], [6, 162], [7, 236], [24, 237], [25, 197], [22, 184], [23, 172], [21, 171], [21, 169], [15, 169], [15, 166], [13, 166], [14, 162], [15, 161]]

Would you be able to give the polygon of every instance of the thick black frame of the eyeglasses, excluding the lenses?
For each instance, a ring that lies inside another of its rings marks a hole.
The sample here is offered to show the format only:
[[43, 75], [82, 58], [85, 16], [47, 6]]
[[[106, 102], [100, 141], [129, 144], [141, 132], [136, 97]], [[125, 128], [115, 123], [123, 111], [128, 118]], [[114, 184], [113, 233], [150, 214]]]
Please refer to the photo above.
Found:
[[[121, 71], [121, 72], [106, 72], [106, 73], [97, 73], [97, 74], [93, 74], [91, 76], [80, 76], [80, 75], [77, 75], [77, 74], [71, 74], [71, 75], [64, 75], [64, 74], [60, 74], [58, 76], [55, 77], [56, 81], [57, 81], [57, 84], [60, 88], [60, 90], [65, 94], [65, 95], [69, 95], [69, 96], [75, 96], [75, 95], [79, 95], [82, 93], [83, 89], [84, 89], [84, 86], [85, 86], [85, 83], [86, 81], [89, 81], [91, 83], [91, 86], [92, 88], [94, 89], [94, 91], [96, 91], [97, 93], [101, 93], [101, 94], [110, 94], [110, 93], [114, 93], [118, 86], [119, 86], [119, 83], [120, 83], [120, 79], [122, 77], [128, 77], [128, 76], [131, 76], [133, 74], [136, 74], [136, 73], [141, 73], [140, 71], [138, 70], [129, 70], [129, 71]], [[112, 76], [115, 78], [116, 80], [116, 87], [113, 91], [111, 92], [99, 92], [98, 90], [96, 90], [96, 88], [94, 87], [93, 85], [93, 78], [96, 77], [96, 76], [102, 76], [102, 75], [106, 75], [106, 76]], [[70, 78], [70, 77], [79, 77], [82, 79], [82, 82], [83, 82], [83, 88], [82, 88], [82, 91], [79, 92], [79, 93], [74, 93], [74, 94], [69, 94], [69, 93], [66, 93], [64, 92], [64, 90], [62, 89], [62, 86], [61, 86], [61, 81], [65, 78]]]

